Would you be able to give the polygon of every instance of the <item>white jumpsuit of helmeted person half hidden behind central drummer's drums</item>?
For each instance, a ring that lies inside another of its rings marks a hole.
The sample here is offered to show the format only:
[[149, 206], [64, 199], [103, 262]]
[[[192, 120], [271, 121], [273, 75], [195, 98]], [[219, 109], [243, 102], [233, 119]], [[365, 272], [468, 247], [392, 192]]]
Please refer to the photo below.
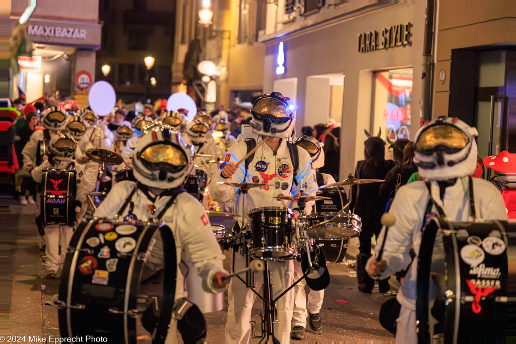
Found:
[[[324, 184], [335, 183], [335, 179], [331, 174], [321, 173], [324, 177]], [[299, 280], [303, 275], [301, 269], [301, 263], [297, 260], [294, 261], [294, 282]], [[317, 314], [320, 312], [322, 301], [324, 300], [324, 289], [312, 290], [309, 288], [308, 292], [308, 303], [307, 303], [307, 292], [305, 286], [307, 282], [303, 279], [301, 282], [296, 284], [294, 287], [294, 314], [292, 317], [292, 326], [303, 326], [307, 327], [308, 312], [310, 314]], [[308, 312], [307, 312], [308, 310]]]

